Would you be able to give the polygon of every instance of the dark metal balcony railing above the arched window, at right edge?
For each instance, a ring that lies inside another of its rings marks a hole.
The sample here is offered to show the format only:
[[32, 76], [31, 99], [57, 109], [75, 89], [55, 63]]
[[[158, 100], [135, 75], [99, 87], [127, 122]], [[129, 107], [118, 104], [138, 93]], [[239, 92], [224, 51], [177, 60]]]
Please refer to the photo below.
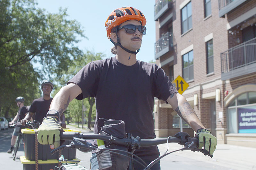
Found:
[[256, 62], [256, 38], [245, 41], [220, 53], [221, 73]]

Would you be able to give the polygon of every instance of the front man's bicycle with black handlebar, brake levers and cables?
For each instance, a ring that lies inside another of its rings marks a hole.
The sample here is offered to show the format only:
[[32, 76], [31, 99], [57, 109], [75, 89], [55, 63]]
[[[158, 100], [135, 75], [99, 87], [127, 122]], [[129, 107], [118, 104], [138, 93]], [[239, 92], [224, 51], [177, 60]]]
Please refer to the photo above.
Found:
[[[99, 134], [84, 134], [84, 133], [70, 133], [70, 132], [63, 132], [60, 134], [61, 140], [72, 140], [72, 142], [68, 145], [62, 145], [54, 150], [52, 150], [51, 154], [54, 154], [62, 149], [65, 148], [78, 148], [82, 152], [90, 152], [93, 149], [99, 150], [99, 154], [97, 154], [98, 163], [100, 169], [122, 169], [120, 168], [120, 160], [124, 160], [123, 158], [129, 159], [129, 167], [127, 170], [133, 170], [133, 161], [138, 162], [139, 164], [143, 165], [145, 168], [144, 170], [149, 170], [150, 167], [152, 167], [157, 161], [165, 157], [166, 155], [177, 152], [177, 151], [184, 151], [184, 150], [191, 150], [191, 151], [199, 151], [203, 152], [202, 149], [198, 149], [198, 139], [189, 137], [188, 133], [186, 132], [179, 132], [174, 137], [166, 137], [166, 138], [159, 138], [159, 139], [140, 139], [140, 137], [133, 137], [132, 134], [127, 133], [125, 138], [117, 138], [113, 136], [106, 136], [106, 135], [99, 135]], [[107, 142], [109, 145], [105, 148], [98, 148], [91, 144], [90, 142], [87, 142], [86, 140], [103, 140]], [[138, 156], [134, 155], [133, 152], [135, 149], [139, 149], [140, 147], [147, 147], [147, 146], [155, 146], [158, 144], [164, 144], [164, 143], [178, 143], [181, 145], [184, 145], [183, 148], [172, 151], [167, 153], [167, 151], [164, 153], [164, 155], [160, 156], [159, 158], [152, 161], [149, 165], [147, 165], [142, 159], [140, 159]], [[128, 151], [125, 151], [123, 149], [113, 149], [115, 147], [113, 146], [123, 146], [128, 149]], [[212, 155], [208, 156], [212, 157]], [[133, 157], [138, 158], [140, 161], [133, 159]], [[121, 158], [121, 159], [120, 159]], [[119, 159], [119, 160], [117, 160]], [[64, 159], [63, 157], [60, 157], [59, 161], [73, 161]], [[82, 169], [86, 170], [85, 167], [78, 165], [79, 161], [75, 161], [75, 163], [65, 163], [60, 167], [55, 167], [54, 170], [71, 170], [71, 169]]]

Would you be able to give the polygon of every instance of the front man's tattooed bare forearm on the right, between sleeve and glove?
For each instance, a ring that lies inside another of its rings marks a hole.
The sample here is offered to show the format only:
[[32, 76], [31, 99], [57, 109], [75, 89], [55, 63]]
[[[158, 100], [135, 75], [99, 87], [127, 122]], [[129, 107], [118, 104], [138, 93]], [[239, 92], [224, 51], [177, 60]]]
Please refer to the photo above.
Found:
[[190, 125], [194, 131], [197, 129], [204, 128], [204, 125], [199, 120], [196, 115], [195, 110], [190, 106], [185, 97], [179, 93], [172, 94], [167, 102], [172, 106], [173, 110], [184, 120], [188, 125]]

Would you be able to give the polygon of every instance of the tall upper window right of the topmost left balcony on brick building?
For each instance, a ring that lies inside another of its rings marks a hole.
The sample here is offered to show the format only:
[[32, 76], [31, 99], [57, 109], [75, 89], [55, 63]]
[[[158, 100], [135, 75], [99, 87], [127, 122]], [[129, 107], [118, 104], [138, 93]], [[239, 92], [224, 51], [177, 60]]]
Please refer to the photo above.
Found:
[[185, 33], [190, 28], [192, 28], [191, 2], [181, 9], [181, 34]]

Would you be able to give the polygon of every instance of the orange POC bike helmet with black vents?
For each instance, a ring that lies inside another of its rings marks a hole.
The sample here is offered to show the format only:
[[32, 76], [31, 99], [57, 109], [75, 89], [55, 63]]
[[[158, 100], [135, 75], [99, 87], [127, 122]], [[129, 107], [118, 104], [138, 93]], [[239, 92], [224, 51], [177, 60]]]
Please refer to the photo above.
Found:
[[111, 33], [112, 28], [119, 26], [120, 24], [128, 20], [138, 20], [140, 21], [142, 26], [145, 26], [147, 22], [142, 12], [140, 12], [136, 8], [132, 8], [132, 7], [117, 8], [116, 10], [111, 12], [111, 14], [108, 16], [108, 19], [105, 23], [108, 39], [110, 39], [109, 34]]

